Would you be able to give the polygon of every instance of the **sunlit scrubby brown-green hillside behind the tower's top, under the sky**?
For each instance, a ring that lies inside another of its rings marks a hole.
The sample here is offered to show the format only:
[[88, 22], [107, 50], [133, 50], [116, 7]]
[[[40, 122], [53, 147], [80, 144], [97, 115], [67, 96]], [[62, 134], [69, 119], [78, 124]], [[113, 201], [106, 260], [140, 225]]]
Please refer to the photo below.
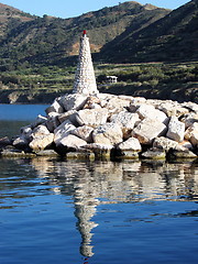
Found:
[[[8, 12], [8, 9], [10, 12], [13, 10], [7, 8]], [[8, 19], [7, 32], [0, 42], [1, 69], [26, 62], [62, 65], [67, 57], [77, 55], [79, 36], [85, 29], [90, 37], [91, 51], [97, 53], [131, 24], [139, 32], [168, 13], [169, 10], [130, 1], [65, 20], [44, 15], [28, 18], [30, 21], [18, 20], [12, 26]], [[18, 14], [21, 18], [21, 12]]]

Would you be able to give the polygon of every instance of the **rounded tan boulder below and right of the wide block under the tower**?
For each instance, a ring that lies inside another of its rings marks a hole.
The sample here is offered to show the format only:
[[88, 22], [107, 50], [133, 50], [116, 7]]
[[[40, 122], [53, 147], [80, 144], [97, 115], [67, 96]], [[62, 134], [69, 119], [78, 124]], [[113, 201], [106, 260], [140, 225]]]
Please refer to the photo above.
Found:
[[123, 133], [118, 123], [106, 123], [92, 132], [94, 143], [114, 145], [122, 142]]

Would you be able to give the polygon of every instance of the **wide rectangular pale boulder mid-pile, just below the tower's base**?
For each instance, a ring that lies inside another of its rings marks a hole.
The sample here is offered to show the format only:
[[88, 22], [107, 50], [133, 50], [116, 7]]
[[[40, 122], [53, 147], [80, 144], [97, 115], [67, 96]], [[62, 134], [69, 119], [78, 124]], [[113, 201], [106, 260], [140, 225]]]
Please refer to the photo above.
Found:
[[75, 114], [75, 120], [78, 125], [88, 125], [96, 128], [107, 122], [108, 110], [107, 109], [84, 109], [79, 110]]

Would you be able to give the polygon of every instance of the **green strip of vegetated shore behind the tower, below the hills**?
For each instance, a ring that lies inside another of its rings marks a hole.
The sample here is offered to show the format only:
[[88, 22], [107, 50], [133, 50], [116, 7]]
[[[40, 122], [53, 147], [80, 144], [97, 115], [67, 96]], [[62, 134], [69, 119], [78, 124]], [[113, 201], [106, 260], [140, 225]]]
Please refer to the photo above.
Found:
[[[0, 75], [0, 102], [52, 102], [70, 92], [76, 67], [26, 67]], [[198, 102], [198, 63], [96, 64], [101, 92]], [[116, 75], [117, 84], [106, 76]]]

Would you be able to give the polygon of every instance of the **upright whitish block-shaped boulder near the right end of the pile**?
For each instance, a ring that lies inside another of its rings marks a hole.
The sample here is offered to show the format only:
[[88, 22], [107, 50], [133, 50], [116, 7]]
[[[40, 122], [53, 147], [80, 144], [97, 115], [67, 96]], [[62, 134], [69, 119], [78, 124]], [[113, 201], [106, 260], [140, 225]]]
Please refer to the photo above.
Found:
[[184, 135], [185, 124], [180, 122], [176, 117], [172, 117], [166, 136], [170, 140], [182, 142], [184, 141]]

